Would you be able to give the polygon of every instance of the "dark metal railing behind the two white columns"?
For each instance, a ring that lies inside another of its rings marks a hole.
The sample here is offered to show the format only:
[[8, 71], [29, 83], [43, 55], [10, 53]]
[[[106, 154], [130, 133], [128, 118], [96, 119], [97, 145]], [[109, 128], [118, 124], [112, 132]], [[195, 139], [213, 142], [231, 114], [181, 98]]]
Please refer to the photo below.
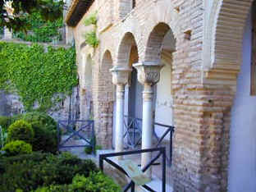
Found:
[[[136, 149], [141, 144], [142, 139], [142, 119], [136, 117], [125, 116], [125, 134], [124, 134], [124, 143], [126, 144], [126, 149]], [[161, 137], [158, 137], [156, 133], [156, 126], [165, 128], [166, 130]], [[175, 127], [164, 125], [158, 122], [153, 123], [153, 138], [157, 139], [157, 144], [153, 147], [158, 148], [162, 146], [162, 141], [166, 139], [169, 135], [169, 155], [167, 155], [168, 165], [171, 166], [172, 158], [172, 139], [174, 134]]]

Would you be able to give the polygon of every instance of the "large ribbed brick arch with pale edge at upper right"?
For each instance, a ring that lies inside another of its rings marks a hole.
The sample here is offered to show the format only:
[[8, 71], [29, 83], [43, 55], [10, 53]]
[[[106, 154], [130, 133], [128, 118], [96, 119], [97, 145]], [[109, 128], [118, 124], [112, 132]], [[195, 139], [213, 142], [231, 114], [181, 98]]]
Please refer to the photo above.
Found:
[[234, 80], [240, 71], [245, 22], [254, 0], [222, 0], [213, 3], [206, 27], [203, 47], [205, 71], [233, 73]]

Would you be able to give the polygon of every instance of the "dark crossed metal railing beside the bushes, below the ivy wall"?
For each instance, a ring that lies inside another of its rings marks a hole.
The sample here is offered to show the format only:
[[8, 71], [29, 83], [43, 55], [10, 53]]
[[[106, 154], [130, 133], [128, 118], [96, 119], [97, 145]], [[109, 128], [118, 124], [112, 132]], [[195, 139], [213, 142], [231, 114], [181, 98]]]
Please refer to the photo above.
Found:
[[[65, 133], [63, 133], [65, 131]], [[62, 139], [62, 135], [68, 135]], [[91, 147], [95, 152], [95, 133], [94, 121], [90, 120], [63, 120], [57, 123], [58, 149]], [[71, 144], [67, 142], [71, 139], [79, 138], [85, 141], [85, 144]]]

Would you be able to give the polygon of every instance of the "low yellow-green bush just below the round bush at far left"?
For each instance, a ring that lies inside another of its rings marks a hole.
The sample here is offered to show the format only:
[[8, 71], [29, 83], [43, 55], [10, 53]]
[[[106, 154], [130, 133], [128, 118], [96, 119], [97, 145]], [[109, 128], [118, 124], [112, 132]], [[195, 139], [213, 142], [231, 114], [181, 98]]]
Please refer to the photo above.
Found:
[[5, 151], [4, 155], [9, 157], [19, 154], [30, 154], [32, 153], [32, 146], [23, 140], [15, 140], [6, 144], [2, 150]]

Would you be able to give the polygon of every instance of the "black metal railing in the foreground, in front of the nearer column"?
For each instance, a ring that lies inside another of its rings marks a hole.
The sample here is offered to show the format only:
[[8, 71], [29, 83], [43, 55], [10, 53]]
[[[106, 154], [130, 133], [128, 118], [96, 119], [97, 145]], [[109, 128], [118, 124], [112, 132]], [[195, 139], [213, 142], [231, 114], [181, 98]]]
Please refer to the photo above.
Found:
[[[158, 154], [156, 157], [154, 157], [148, 163], [148, 165], [143, 167], [142, 171], [143, 172], [147, 171], [149, 169], [149, 167], [153, 166], [154, 162], [156, 162], [158, 160], [158, 158], [160, 158], [162, 156], [162, 192], [166, 192], [166, 149], [165, 148], [142, 149], [142, 150], [119, 152], [119, 153], [100, 154], [99, 155], [99, 168], [103, 171], [103, 169], [104, 169], [103, 162], [106, 161], [113, 167], [117, 168], [117, 170], [121, 171], [126, 176], [128, 176], [126, 171], [120, 165], [118, 165], [116, 162], [112, 161], [110, 158], [117, 157], [117, 156], [126, 156], [126, 155], [131, 155], [131, 154], [152, 153], [152, 152], [158, 152]], [[130, 176], [128, 176], [128, 177], [130, 177]], [[144, 187], [145, 190], [156, 192], [151, 187], [149, 187], [149, 185], [142, 185], [142, 187]], [[127, 184], [123, 189], [123, 191], [128, 191], [128, 190], [130, 190], [131, 192], [135, 192], [135, 182], [134, 181], [131, 180], [130, 183]]]

